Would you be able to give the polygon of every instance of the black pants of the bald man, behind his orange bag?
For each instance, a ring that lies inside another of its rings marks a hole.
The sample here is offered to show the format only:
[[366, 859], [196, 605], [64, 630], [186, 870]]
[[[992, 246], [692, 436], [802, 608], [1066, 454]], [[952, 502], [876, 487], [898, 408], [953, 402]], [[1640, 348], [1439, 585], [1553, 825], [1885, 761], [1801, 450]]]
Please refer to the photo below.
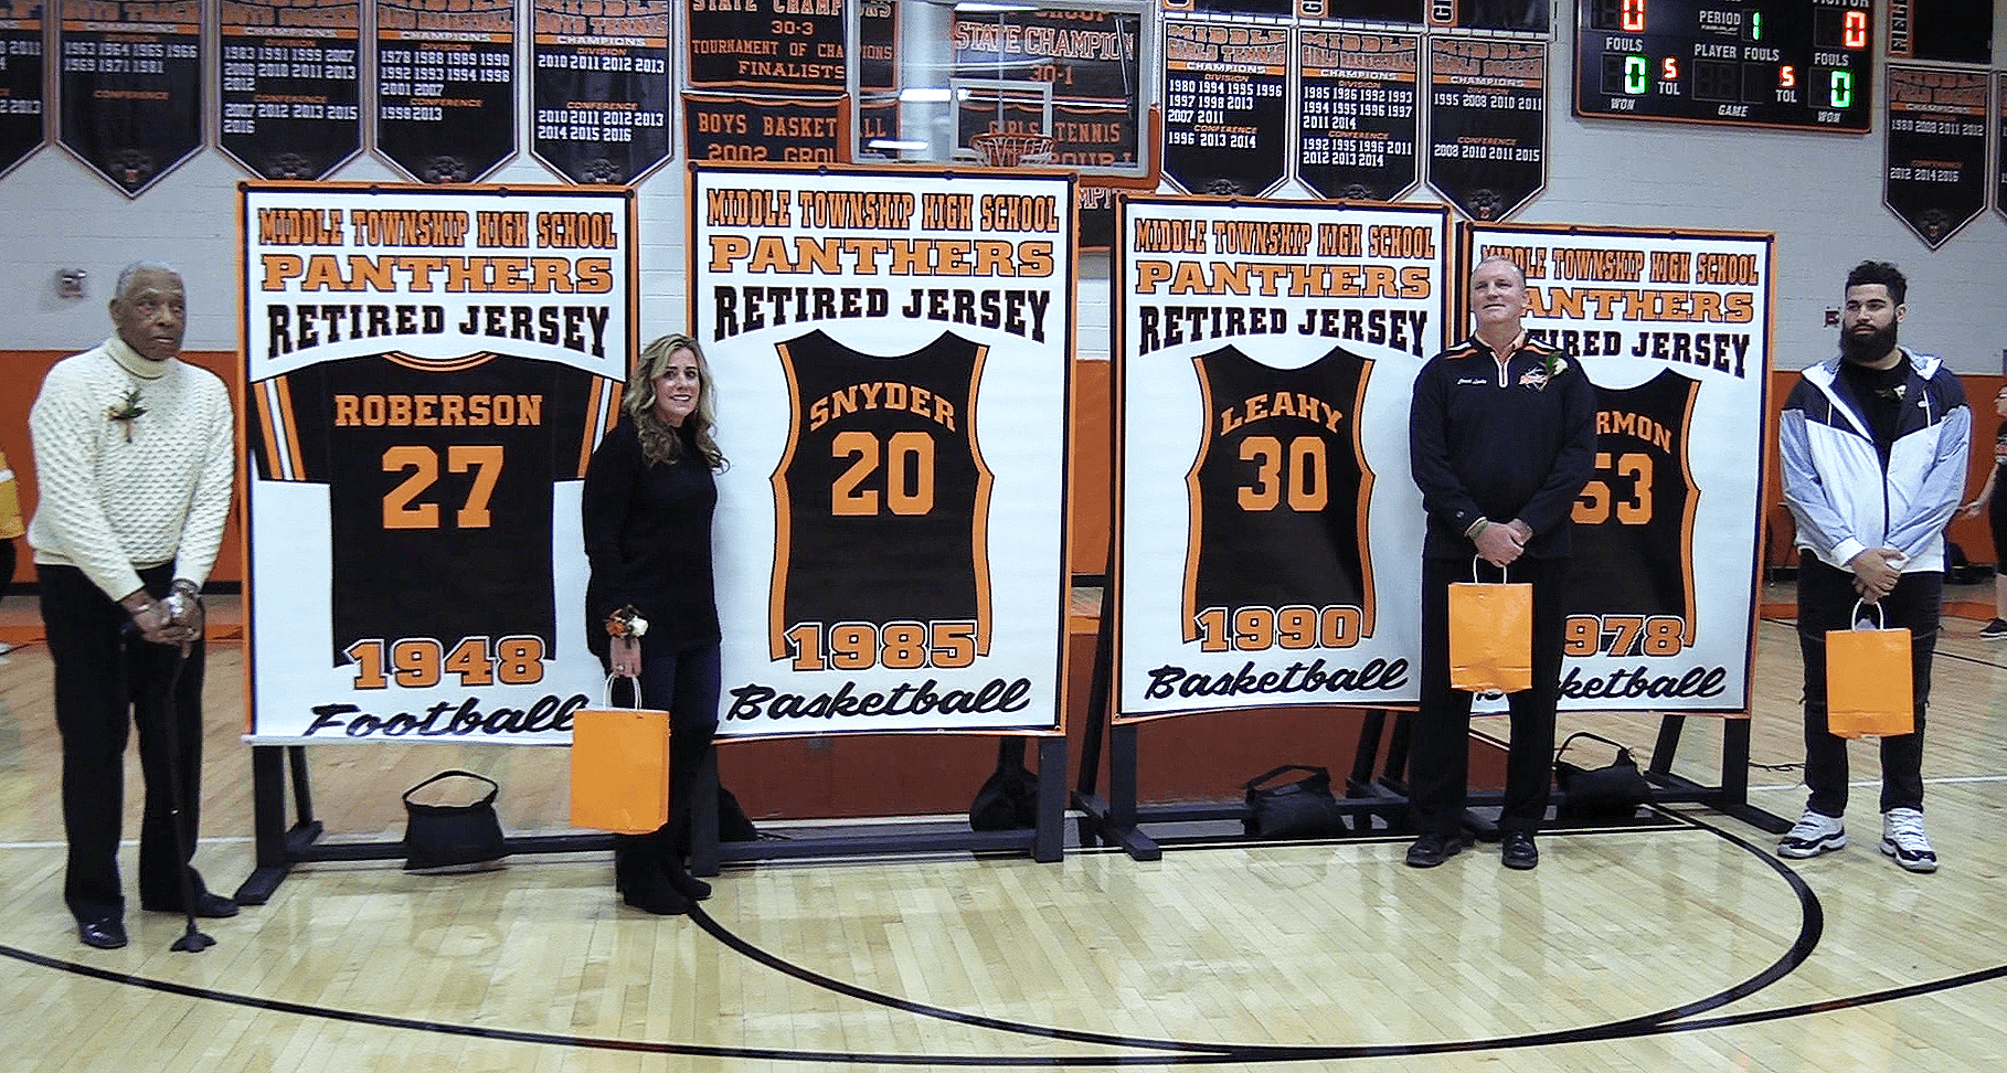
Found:
[[[1481, 578], [1497, 580], [1485, 564]], [[1533, 586], [1533, 688], [1505, 698], [1511, 750], [1505, 756], [1501, 830], [1539, 828], [1553, 780], [1553, 708], [1561, 694], [1561, 632], [1567, 622], [1567, 560], [1521, 556], [1511, 582]], [[1449, 586], [1471, 580], [1471, 560], [1421, 560], [1421, 708], [1409, 734], [1407, 808], [1415, 830], [1455, 834], [1463, 822], [1471, 768], [1471, 694], [1449, 688]]]

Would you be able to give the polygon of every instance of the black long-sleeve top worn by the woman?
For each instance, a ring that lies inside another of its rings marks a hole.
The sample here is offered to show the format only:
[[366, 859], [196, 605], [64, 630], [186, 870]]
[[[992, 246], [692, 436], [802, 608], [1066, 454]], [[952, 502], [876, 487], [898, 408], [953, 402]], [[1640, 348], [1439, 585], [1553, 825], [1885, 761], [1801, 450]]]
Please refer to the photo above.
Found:
[[674, 463], [650, 465], [632, 419], [600, 439], [586, 467], [586, 640], [606, 658], [606, 616], [632, 604], [648, 630], [642, 658], [719, 640], [710, 578], [710, 513], [719, 485], [694, 437], [682, 435]]

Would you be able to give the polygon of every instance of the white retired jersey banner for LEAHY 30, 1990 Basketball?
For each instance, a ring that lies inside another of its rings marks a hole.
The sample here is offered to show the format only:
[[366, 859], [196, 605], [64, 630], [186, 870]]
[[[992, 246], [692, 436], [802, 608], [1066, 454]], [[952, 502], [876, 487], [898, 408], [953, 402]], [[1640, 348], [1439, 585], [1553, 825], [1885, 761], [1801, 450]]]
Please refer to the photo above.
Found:
[[1439, 207], [1124, 201], [1118, 720], [1413, 704]]

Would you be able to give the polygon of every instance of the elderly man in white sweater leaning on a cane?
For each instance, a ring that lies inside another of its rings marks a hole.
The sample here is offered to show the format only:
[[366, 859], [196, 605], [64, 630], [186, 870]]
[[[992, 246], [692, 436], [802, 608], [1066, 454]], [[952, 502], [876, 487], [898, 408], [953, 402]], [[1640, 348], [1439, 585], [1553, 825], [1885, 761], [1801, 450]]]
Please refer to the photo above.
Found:
[[[147, 808], [140, 909], [235, 917], [195, 856], [203, 770], [203, 582], [231, 509], [235, 433], [223, 381], [179, 359], [181, 275], [118, 275], [112, 337], [48, 371], [28, 415], [40, 503], [28, 525], [62, 734], [62, 897], [86, 947], [126, 945], [118, 880], [124, 746], [138, 724]], [[189, 941], [201, 939], [201, 945]]]

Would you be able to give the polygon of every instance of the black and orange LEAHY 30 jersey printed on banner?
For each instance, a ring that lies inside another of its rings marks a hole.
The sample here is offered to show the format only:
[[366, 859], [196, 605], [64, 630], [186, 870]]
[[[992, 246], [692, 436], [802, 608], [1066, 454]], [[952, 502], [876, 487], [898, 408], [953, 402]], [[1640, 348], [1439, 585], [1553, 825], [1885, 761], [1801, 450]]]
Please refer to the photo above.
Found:
[[1206, 435], [1186, 475], [1184, 640], [1212, 608], [1359, 608], [1373, 634], [1359, 403], [1373, 363], [1343, 347], [1301, 369], [1236, 347], [1194, 357]]

